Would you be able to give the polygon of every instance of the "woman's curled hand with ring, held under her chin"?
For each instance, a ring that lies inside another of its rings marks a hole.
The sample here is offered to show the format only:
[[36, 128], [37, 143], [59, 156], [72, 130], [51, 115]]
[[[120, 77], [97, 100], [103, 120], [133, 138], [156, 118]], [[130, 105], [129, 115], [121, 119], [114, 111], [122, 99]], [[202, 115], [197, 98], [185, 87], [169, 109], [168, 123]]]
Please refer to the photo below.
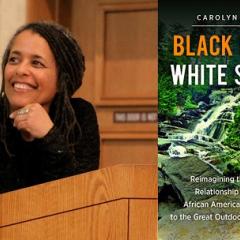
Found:
[[43, 138], [53, 127], [47, 111], [39, 103], [28, 104], [12, 112], [9, 117], [14, 120], [13, 126], [29, 141]]

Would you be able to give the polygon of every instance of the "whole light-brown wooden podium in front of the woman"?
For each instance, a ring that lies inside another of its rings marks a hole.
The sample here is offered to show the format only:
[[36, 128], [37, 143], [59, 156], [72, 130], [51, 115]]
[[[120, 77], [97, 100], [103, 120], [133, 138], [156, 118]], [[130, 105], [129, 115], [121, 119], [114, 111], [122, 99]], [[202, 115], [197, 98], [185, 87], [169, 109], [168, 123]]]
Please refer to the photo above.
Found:
[[0, 194], [0, 240], [125, 239], [157, 239], [155, 165], [116, 165]]

